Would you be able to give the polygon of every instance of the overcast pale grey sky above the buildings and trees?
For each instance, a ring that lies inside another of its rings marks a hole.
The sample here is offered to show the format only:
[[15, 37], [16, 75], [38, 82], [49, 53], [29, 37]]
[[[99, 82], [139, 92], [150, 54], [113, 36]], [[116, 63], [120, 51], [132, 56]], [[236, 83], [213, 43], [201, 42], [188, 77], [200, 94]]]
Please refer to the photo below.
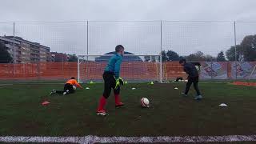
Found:
[[[37, 21], [256, 21], [255, 0], [1, 0], [0, 22]], [[163, 22], [162, 48], [179, 54], [216, 55], [234, 45], [233, 22]], [[89, 53], [124, 44], [134, 54], [156, 54], [160, 22], [91, 22]], [[256, 23], [238, 23], [238, 43], [256, 34]], [[0, 34], [12, 33], [11, 23]], [[16, 23], [15, 34], [52, 51], [86, 54], [86, 22]]]

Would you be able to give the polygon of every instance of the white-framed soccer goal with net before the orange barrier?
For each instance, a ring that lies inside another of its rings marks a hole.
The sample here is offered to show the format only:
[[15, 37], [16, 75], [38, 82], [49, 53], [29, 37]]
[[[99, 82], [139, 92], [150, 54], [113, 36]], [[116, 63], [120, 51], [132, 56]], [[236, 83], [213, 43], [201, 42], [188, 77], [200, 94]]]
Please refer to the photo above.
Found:
[[[102, 82], [102, 74], [113, 54], [79, 55], [78, 82]], [[127, 82], [162, 82], [161, 55], [125, 54], [120, 76]]]

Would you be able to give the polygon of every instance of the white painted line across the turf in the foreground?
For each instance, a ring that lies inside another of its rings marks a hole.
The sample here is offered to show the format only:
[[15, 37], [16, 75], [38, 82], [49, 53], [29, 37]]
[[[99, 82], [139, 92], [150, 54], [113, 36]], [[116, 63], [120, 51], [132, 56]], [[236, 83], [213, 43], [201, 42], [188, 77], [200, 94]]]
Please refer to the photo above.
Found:
[[227, 136], [183, 136], [183, 137], [0, 137], [0, 142], [74, 142], [74, 143], [110, 143], [110, 142], [256, 142], [256, 135]]

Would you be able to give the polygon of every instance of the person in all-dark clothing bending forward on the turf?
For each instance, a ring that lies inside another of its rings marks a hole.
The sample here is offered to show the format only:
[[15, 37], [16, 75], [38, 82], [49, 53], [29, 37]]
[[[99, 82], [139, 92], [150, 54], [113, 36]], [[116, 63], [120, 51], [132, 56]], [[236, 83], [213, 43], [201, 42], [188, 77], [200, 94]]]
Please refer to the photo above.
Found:
[[186, 59], [182, 59], [179, 61], [179, 63], [184, 67], [184, 71], [186, 74], [188, 74], [188, 82], [186, 83], [186, 90], [182, 95], [187, 96], [190, 86], [193, 83], [194, 84], [194, 90], [197, 92], [197, 96], [194, 98], [195, 100], [201, 100], [202, 95], [200, 94], [200, 91], [198, 89], [198, 82], [199, 82], [199, 74], [198, 71], [200, 70], [201, 64], [199, 62], [195, 63], [187, 63]]

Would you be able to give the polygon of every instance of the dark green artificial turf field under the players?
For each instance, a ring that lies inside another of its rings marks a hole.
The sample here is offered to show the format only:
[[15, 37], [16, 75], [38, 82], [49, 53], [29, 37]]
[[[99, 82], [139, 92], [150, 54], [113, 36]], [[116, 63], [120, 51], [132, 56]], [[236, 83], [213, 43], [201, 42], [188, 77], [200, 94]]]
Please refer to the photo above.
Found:
[[[229, 83], [199, 83], [203, 99], [181, 95], [185, 83], [128, 83], [116, 109], [108, 98], [106, 117], [96, 115], [102, 84], [84, 84], [90, 90], [48, 95], [62, 84], [1, 85], [0, 135], [11, 136], [207, 136], [256, 134], [256, 88]], [[174, 90], [174, 87], [178, 90]], [[136, 90], [132, 90], [135, 87]], [[141, 108], [140, 98], [150, 100]], [[48, 106], [41, 102], [47, 100]], [[226, 103], [227, 107], [218, 106]]]

